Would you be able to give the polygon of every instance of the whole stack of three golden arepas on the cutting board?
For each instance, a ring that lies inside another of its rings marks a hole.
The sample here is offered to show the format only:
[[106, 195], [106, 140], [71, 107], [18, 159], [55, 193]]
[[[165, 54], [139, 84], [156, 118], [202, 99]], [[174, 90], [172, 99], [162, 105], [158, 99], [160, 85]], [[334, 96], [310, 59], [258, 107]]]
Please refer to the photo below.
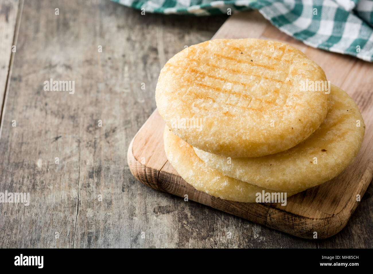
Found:
[[220, 39], [163, 67], [156, 103], [164, 149], [197, 190], [239, 202], [294, 195], [341, 173], [364, 138], [360, 111], [301, 51], [276, 41]]

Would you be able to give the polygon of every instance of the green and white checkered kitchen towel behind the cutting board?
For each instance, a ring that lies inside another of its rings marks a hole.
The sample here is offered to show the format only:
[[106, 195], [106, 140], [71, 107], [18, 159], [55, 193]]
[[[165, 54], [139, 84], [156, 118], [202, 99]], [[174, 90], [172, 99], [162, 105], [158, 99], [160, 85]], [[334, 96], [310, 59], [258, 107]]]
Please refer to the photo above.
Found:
[[373, 62], [373, 0], [112, 0], [146, 12], [229, 14], [258, 9], [306, 45]]

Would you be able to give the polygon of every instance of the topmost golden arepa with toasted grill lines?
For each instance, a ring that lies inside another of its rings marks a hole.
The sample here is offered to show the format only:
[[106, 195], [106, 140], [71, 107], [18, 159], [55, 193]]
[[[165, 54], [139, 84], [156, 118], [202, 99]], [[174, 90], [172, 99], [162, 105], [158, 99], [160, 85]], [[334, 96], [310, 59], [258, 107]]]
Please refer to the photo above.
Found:
[[329, 108], [324, 83], [320, 66], [287, 44], [219, 39], [164, 65], [156, 103], [166, 125], [193, 147], [259, 157], [294, 147], [320, 126]]

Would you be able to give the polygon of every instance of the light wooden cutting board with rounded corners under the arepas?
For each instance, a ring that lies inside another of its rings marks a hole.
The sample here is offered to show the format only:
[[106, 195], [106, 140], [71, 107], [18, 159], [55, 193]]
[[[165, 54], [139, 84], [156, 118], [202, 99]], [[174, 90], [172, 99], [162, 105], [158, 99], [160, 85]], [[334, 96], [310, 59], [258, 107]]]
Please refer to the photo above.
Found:
[[[213, 19], [211, 19], [213, 20]], [[354, 163], [336, 178], [287, 199], [287, 205], [226, 201], [188, 185], [167, 161], [163, 148], [164, 122], [157, 110], [132, 139], [128, 166], [151, 188], [237, 215], [295, 236], [323, 239], [338, 233], [363, 198], [373, 176], [373, 64], [354, 57], [306, 46], [283, 34], [257, 11], [232, 15], [214, 38], [278, 40], [303, 51], [324, 70], [327, 79], [344, 89], [358, 104], [366, 124], [363, 145]], [[201, 41], [202, 42], [202, 41]]]

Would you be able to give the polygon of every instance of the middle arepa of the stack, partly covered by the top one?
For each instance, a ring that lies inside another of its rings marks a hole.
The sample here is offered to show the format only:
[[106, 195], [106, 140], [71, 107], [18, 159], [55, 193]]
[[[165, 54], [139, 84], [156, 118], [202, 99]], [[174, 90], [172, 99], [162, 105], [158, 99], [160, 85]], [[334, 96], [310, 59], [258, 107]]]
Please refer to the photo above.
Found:
[[331, 106], [308, 139], [273, 155], [229, 158], [195, 148], [207, 166], [226, 176], [263, 188], [300, 192], [332, 179], [357, 155], [365, 133], [361, 113], [352, 98], [331, 85]]

